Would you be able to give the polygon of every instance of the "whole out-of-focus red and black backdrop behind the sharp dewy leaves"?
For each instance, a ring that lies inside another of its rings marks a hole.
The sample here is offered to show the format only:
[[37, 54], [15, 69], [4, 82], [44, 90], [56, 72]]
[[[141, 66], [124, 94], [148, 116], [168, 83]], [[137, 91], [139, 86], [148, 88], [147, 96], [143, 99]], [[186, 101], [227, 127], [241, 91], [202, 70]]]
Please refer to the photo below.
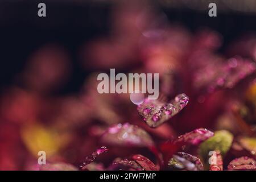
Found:
[[[217, 17], [208, 16], [210, 2]], [[156, 145], [197, 127], [254, 136], [255, 19], [253, 0], [1, 0], [0, 169], [38, 169], [40, 150], [49, 162], [79, 166], [123, 122]], [[159, 73], [161, 98], [186, 93], [189, 104], [150, 129], [129, 94], [97, 93], [97, 74], [110, 68]], [[121, 151], [97, 169], [129, 155]]]

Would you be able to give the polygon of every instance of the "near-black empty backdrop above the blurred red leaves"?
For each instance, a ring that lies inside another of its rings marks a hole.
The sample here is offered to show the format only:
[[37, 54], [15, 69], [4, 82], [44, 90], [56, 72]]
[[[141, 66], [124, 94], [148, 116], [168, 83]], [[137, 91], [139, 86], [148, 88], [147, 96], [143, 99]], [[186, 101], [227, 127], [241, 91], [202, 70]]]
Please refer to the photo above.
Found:
[[[38, 16], [39, 2], [46, 3], [47, 17]], [[76, 92], [88, 75], [88, 71], [80, 68], [77, 50], [97, 36], [108, 35], [113, 3], [0, 1], [0, 88], [14, 82], [14, 76], [22, 71], [31, 52], [53, 42], [67, 48], [73, 60], [72, 78], [60, 93]], [[174, 9], [158, 2], [152, 5], [164, 11], [171, 22], [179, 22], [192, 32], [200, 27], [220, 32], [224, 38], [220, 52], [244, 32], [256, 30], [255, 14], [217, 9], [217, 17], [210, 18], [208, 10]]]

